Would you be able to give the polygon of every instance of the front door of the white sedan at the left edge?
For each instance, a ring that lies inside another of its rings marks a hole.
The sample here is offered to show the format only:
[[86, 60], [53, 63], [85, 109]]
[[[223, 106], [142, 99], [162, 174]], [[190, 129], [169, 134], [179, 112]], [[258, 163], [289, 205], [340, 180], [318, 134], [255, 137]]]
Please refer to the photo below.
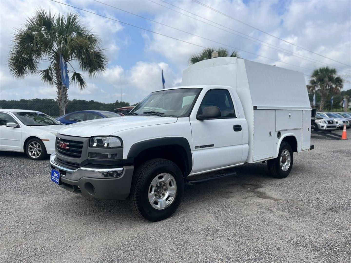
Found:
[[[17, 127], [6, 127], [6, 123], [14, 122]], [[8, 113], [0, 112], [0, 150], [21, 151], [22, 128], [18, 121]]]

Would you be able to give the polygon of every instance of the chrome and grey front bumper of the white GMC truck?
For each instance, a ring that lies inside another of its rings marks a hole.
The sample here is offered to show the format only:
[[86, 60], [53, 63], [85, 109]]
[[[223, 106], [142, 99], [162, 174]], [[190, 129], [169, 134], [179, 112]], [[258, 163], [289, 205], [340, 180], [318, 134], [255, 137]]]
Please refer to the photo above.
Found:
[[[59, 186], [68, 191], [100, 199], [114, 200], [123, 200], [129, 195], [134, 166], [110, 169], [81, 167], [72, 170], [57, 164], [54, 160], [55, 154], [52, 154], [50, 156], [50, 170], [55, 169], [60, 171]], [[117, 169], [122, 173], [117, 178], [102, 176], [104, 171], [114, 171]]]

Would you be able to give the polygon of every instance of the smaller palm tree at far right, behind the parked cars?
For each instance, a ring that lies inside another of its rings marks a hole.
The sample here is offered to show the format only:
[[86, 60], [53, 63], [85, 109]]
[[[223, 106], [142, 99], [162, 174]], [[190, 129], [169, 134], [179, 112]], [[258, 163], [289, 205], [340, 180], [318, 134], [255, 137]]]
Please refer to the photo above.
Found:
[[337, 94], [343, 88], [343, 79], [336, 75], [335, 68], [322, 67], [315, 69], [311, 75], [310, 92], [317, 91], [320, 94], [319, 110], [322, 111], [329, 93]]

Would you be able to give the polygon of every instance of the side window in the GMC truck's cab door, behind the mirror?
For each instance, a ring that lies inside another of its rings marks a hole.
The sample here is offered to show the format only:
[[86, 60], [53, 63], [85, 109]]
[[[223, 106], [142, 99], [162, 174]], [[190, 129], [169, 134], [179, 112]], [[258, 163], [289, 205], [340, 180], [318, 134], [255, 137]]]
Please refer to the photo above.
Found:
[[232, 98], [226, 89], [208, 90], [200, 104], [198, 114], [201, 114], [205, 107], [211, 106], [220, 109], [220, 118], [236, 118]]

